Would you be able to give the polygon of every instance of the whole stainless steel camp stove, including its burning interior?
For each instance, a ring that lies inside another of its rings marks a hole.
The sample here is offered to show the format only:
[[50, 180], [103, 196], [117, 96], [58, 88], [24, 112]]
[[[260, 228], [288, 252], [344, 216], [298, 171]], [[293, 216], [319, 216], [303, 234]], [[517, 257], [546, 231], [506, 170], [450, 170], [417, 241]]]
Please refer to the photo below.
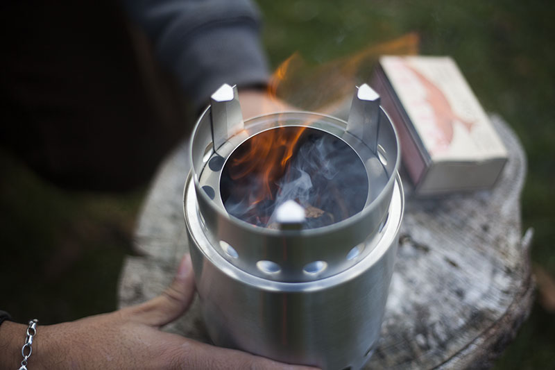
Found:
[[223, 85], [189, 154], [185, 222], [212, 341], [361, 368], [379, 337], [404, 205], [399, 143], [379, 96], [357, 88], [348, 121], [244, 120], [237, 89]]

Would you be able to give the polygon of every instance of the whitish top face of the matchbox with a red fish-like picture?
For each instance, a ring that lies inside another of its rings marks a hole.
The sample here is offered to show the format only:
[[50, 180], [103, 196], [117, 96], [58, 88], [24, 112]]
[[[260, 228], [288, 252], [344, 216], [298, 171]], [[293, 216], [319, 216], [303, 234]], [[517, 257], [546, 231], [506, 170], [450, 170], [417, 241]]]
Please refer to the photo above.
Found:
[[385, 56], [380, 64], [433, 160], [506, 156], [451, 58]]

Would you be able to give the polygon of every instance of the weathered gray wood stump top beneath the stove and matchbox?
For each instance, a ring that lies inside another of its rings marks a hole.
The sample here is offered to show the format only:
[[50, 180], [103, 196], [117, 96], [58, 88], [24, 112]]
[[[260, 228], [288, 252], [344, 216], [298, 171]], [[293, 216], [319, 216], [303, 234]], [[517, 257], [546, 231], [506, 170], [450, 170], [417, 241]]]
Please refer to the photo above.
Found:
[[[526, 173], [513, 131], [491, 117], [509, 162], [491, 191], [442, 199], [407, 196], [382, 337], [368, 369], [485, 369], [527, 318], [533, 279], [531, 232], [522, 236], [520, 192]], [[121, 307], [160, 294], [188, 251], [182, 194], [187, 145], [160, 167], [135, 231], [140, 256], [126, 258]], [[210, 342], [198, 300], [164, 330]]]

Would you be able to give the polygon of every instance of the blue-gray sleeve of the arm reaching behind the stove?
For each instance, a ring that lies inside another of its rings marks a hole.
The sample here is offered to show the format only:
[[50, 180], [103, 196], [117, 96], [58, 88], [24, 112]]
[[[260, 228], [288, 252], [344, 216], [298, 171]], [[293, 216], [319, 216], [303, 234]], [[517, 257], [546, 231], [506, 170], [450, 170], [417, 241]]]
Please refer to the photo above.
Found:
[[221, 84], [264, 84], [260, 17], [250, 0], [123, 0], [164, 65], [200, 108]]

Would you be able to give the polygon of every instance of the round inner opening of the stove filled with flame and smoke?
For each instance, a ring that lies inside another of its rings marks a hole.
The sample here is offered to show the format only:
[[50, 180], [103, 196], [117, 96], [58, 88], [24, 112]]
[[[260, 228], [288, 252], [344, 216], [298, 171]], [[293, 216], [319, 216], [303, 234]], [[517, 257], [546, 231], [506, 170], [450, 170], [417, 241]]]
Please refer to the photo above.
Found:
[[255, 226], [278, 228], [275, 210], [293, 200], [303, 228], [347, 219], [368, 196], [364, 164], [343, 140], [306, 126], [272, 128], [250, 137], [225, 162], [220, 192], [227, 212]]

